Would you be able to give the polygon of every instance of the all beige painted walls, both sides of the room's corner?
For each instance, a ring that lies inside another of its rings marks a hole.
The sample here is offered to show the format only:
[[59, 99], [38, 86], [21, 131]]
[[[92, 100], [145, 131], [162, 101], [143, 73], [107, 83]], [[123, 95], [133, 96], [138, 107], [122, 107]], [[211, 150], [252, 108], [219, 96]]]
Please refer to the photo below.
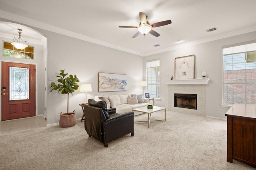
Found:
[[[8, 21], [0, 18], [0, 21]], [[26, 25], [29, 27], [29, 25]], [[138, 81], [145, 80], [145, 62], [152, 59], [160, 59], [160, 80], [165, 80], [165, 74], [174, 75], [174, 59], [187, 55], [195, 55], [195, 78], [201, 78], [201, 71], [207, 71], [207, 77], [211, 80], [206, 86], [206, 116], [226, 118], [227, 107], [222, 104], [222, 46], [235, 43], [252, 41], [256, 32], [237, 35], [225, 39], [192, 45], [147, 57], [140, 57], [109, 47], [89, 43], [65, 35], [60, 35], [44, 29], [33, 29], [47, 37], [46, 45], [38, 51], [38, 107], [44, 108], [44, 83], [47, 85], [47, 123], [58, 123], [60, 112], [66, 111], [67, 96], [57, 92], [50, 93], [50, 82], [55, 81], [55, 73], [65, 69], [68, 74], [76, 74], [80, 84], [92, 84], [92, 92], [88, 92], [87, 98], [96, 95], [131, 94], [140, 93], [142, 88]], [[36, 45], [35, 45], [36, 46]], [[39, 48], [38, 48], [39, 49]], [[1, 51], [0, 51], [1, 52]], [[1, 52], [2, 53], [2, 52]], [[46, 59], [47, 56], [47, 59]], [[1, 57], [3, 60], [3, 57]], [[44, 81], [44, 63], [47, 62], [47, 76]], [[98, 72], [118, 73], [128, 75], [128, 90], [122, 92], [98, 92]], [[157, 106], [168, 107], [168, 85], [160, 82], [160, 100], [155, 101]], [[42, 91], [41, 91], [42, 90]], [[84, 93], [75, 92], [70, 95], [70, 111], [76, 110], [76, 117], [80, 118], [81, 108], [79, 103], [84, 102]], [[38, 108], [39, 110], [39, 108]], [[38, 113], [40, 114], [40, 113]]]

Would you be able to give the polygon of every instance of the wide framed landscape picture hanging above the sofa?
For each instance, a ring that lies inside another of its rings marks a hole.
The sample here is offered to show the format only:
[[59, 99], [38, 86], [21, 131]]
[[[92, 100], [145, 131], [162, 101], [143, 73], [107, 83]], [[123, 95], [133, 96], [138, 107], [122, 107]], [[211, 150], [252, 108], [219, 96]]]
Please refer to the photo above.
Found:
[[99, 72], [99, 92], [126, 91], [127, 75]]

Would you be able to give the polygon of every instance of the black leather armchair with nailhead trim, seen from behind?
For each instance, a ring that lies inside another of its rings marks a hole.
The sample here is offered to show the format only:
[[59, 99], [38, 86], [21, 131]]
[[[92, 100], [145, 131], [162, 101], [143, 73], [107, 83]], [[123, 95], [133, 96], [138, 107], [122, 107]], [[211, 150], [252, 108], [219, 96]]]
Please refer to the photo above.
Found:
[[108, 110], [104, 101], [89, 99], [88, 104], [84, 104], [84, 129], [89, 137], [94, 137], [108, 147], [111, 141], [129, 133], [134, 135], [133, 111], [119, 115], [115, 108]]

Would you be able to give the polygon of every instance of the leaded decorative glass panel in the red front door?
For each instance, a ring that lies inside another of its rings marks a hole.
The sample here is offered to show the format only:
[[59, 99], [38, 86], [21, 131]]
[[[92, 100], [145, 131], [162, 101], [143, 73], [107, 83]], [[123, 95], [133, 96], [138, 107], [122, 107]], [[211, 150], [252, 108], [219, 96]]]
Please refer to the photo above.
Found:
[[29, 68], [10, 67], [10, 100], [29, 99]]

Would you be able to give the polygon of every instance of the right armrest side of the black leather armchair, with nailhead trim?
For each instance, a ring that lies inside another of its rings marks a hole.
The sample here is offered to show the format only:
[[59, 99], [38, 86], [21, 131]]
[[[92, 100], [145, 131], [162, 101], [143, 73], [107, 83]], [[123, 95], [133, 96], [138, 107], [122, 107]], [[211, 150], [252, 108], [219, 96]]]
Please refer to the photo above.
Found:
[[104, 145], [134, 132], [134, 112], [116, 115], [102, 123]]

